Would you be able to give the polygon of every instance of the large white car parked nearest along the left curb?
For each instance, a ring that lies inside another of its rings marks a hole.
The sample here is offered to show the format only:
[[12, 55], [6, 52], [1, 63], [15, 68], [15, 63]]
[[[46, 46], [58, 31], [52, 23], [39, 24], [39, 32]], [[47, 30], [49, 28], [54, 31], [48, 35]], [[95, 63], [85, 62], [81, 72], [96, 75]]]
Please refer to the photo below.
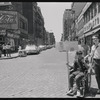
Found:
[[27, 54], [39, 54], [40, 50], [36, 45], [27, 45], [25, 48]]

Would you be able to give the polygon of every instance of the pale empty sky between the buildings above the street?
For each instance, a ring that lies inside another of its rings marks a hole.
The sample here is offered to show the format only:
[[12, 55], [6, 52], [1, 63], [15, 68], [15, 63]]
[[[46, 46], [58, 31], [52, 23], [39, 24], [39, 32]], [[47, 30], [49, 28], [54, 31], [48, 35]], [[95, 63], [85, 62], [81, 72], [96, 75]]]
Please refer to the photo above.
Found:
[[65, 9], [71, 9], [72, 2], [37, 2], [44, 18], [46, 31], [53, 32], [56, 42], [61, 40], [63, 33], [63, 14]]

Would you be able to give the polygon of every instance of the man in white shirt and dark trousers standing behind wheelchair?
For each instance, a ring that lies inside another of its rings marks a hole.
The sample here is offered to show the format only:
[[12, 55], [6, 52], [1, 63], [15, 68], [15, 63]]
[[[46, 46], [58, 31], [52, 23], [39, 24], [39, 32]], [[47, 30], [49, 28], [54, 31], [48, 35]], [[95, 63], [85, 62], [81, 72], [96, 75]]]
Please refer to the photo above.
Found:
[[91, 52], [85, 57], [91, 57], [92, 66], [95, 71], [95, 78], [98, 85], [97, 94], [100, 94], [100, 40], [98, 35], [92, 37], [93, 46], [91, 47]]

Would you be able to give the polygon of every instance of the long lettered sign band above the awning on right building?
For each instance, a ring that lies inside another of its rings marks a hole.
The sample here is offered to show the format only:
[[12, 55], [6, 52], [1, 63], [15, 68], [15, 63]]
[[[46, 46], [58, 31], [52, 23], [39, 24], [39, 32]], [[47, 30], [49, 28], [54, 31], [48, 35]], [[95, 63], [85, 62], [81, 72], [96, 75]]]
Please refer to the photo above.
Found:
[[86, 25], [84, 25], [84, 33], [100, 25], [100, 14], [95, 16]]

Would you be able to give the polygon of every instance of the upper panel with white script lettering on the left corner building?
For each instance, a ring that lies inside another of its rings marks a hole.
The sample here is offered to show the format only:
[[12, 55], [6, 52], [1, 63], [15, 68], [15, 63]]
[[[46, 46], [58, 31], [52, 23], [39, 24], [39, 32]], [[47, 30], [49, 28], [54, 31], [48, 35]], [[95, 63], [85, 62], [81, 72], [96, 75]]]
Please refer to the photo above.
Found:
[[0, 13], [0, 24], [16, 24], [16, 15]]

